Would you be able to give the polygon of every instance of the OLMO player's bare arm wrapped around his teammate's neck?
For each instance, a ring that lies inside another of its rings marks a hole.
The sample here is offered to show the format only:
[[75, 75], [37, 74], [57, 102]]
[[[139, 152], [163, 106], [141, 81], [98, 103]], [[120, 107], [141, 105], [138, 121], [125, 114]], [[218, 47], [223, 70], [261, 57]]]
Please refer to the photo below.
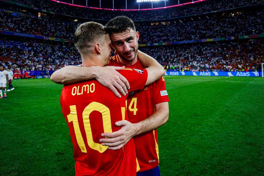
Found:
[[144, 68], [148, 71], [148, 79], [146, 85], [153, 83], [154, 81], [165, 75], [165, 70], [162, 65], [158, 63], [153, 57], [138, 50], [138, 59]]

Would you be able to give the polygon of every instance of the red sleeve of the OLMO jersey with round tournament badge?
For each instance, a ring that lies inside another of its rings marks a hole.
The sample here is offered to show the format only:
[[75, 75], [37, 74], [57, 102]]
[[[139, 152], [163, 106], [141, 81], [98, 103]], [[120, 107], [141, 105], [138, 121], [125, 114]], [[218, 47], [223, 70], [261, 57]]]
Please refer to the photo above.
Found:
[[148, 78], [148, 71], [146, 69], [124, 68], [119, 73], [127, 79], [130, 85], [128, 92], [143, 89]]

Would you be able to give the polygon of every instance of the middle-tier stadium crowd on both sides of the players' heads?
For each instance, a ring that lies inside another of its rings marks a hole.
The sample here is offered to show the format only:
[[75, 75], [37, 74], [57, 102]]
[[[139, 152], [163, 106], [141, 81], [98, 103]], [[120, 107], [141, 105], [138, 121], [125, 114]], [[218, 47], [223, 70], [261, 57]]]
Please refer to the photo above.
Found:
[[[77, 22], [61, 19], [36, 19], [0, 11], [0, 30], [33, 35], [73, 39]], [[157, 26], [136, 26], [140, 32], [139, 43], [160, 43], [220, 38], [264, 33], [264, 10], [210, 16], [195, 21], [161, 22]]]

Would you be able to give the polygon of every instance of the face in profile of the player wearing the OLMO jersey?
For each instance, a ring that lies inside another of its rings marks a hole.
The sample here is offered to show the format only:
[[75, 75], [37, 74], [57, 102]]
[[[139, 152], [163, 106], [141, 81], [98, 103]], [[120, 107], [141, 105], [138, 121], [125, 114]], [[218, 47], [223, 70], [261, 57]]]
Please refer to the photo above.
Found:
[[111, 52], [113, 51], [113, 48], [111, 47], [111, 39], [109, 34], [104, 35], [103, 38], [104, 42], [102, 43], [102, 59], [104, 62], [104, 66], [107, 66], [109, 64], [109, 58], [111, 56]]

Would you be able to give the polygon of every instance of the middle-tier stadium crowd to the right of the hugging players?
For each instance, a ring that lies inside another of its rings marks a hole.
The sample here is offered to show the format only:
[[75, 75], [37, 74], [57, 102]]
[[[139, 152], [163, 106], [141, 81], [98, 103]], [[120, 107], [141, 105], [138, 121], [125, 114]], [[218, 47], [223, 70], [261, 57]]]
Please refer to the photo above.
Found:
[[204, 17], [197, 21], [184, 20], [159, 26], [136, 27], [140, 32], [140, 43], [163, 43], [205, 38], [220, 38], [264, 33], [264, 11], [256, 13], [233, 13]]

